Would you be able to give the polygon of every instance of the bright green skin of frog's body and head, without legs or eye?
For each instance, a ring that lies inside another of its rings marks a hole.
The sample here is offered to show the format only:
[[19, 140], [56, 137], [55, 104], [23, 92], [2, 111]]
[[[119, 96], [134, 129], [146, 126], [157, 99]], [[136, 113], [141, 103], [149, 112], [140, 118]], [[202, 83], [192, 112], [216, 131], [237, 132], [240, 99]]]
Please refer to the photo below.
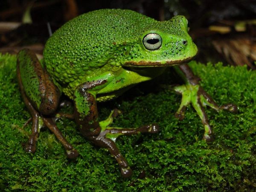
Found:
[[[161, 36], [160, 49], [145, 48], [143, 37], [149, 33]], [[184, 41], [187, 43], [183, 44]], [[145, 68], [137, 73], [133, 68], [182, 63], [196, 53], [183, 16], [157, 21], [131, 10], [102, 9], [80, 15], [58, 29], [47, 41], [44, 64], [71, 99], [79, 84], [107, 79], [104, 86], [94, 90], [96, 94], [109, 93], [97, 96], [98, 100], [108, 100], [120, 94], [113, 93], [116, 90], [152, 79], [164, 71]]]

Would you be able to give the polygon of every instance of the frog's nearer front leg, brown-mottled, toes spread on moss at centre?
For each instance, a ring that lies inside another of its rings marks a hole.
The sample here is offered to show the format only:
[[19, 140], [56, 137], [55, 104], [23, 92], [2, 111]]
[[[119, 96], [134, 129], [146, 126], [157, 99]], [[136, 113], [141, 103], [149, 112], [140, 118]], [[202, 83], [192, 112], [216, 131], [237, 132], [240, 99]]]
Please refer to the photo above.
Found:
[[107, 148], [115, 157], [120, 166], [123, 177], [130, 177], [132, 170], [116, 147], [116, 138], [120, 135], [132, 135], [138, 133], [157, 133], [158, 125], [145, 125], [139, 128], [111, 128], [108, 127], [113, 121], [113, 117], [118, 114], [117, 111], [112, 111], [108, 119], [99, 122], [98, 110], [96, 105], [96, 94], [93, 88], [106, 83], [106, 80], [98, 80], [87, 82], [75, 90], [75, 119], [79, 126], [81, 134], [94, 144]]

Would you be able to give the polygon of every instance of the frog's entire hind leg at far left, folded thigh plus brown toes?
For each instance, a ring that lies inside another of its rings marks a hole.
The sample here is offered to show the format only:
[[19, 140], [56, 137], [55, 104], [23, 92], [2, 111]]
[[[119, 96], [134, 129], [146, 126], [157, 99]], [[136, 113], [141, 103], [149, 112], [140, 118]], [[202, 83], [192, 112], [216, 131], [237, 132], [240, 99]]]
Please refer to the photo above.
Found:
[[23, 49], [17, 55], [17, 79], [23, 101], [32, 116], [32, 133], [25, 150], [35, 152], [40, 128], [46, 125], [64, 146], [67, 157], [77, 157], [78, 152], [67, 142], [52, 120], [52, 114], [58, 108], [60, 91], [29, 49]]

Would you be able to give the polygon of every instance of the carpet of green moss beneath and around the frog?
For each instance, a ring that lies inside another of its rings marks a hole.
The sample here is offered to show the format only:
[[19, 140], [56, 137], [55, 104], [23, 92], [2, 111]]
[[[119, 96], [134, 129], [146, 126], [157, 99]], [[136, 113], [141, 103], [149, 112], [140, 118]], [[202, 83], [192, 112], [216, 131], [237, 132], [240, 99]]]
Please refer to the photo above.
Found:
[[[116, 126], [160, 125], [158, 134], [117, 139], [134, 170], [124, 179], [109, 152], [81, 137], [69, 119], [59, 119], [57, 125], [79, 151], [76, 160], [67, 160], [49, 130], [40, 132], [35, 154], [24, 151], [31, 123], [23, 128], [30, 115], [18, 90], [15, 62], [15, 56], [0, 55], [0, 191], [256, 190], [256, 73], [246, 67], [190, 64], [216, 102], [239, 106], [237, 114], [207, 110], [215, 132], [212, 143], [201, 140], [204, 128], [191, 106], [183, 121], [175, 119], [180, 96], [158, 86], [173, 83], [172, 71], [99, 104], [101, 119], [113, 108], [123, 112], [115, 119]], [[159, 88], [150, 90], [153, 86]]]

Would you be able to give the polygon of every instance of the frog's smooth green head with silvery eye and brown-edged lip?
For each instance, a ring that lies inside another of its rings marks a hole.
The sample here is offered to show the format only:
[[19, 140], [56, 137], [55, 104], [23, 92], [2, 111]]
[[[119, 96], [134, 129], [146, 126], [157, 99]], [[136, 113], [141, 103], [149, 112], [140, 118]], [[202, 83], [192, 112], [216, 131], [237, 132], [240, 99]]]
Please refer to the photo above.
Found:
[[129, 67], [171, 66], [190, 61], [197, 47], [188, 34], [189, 23], [184, 16], [156, 21], [144, 27], [137, 43], [129, 50]]

